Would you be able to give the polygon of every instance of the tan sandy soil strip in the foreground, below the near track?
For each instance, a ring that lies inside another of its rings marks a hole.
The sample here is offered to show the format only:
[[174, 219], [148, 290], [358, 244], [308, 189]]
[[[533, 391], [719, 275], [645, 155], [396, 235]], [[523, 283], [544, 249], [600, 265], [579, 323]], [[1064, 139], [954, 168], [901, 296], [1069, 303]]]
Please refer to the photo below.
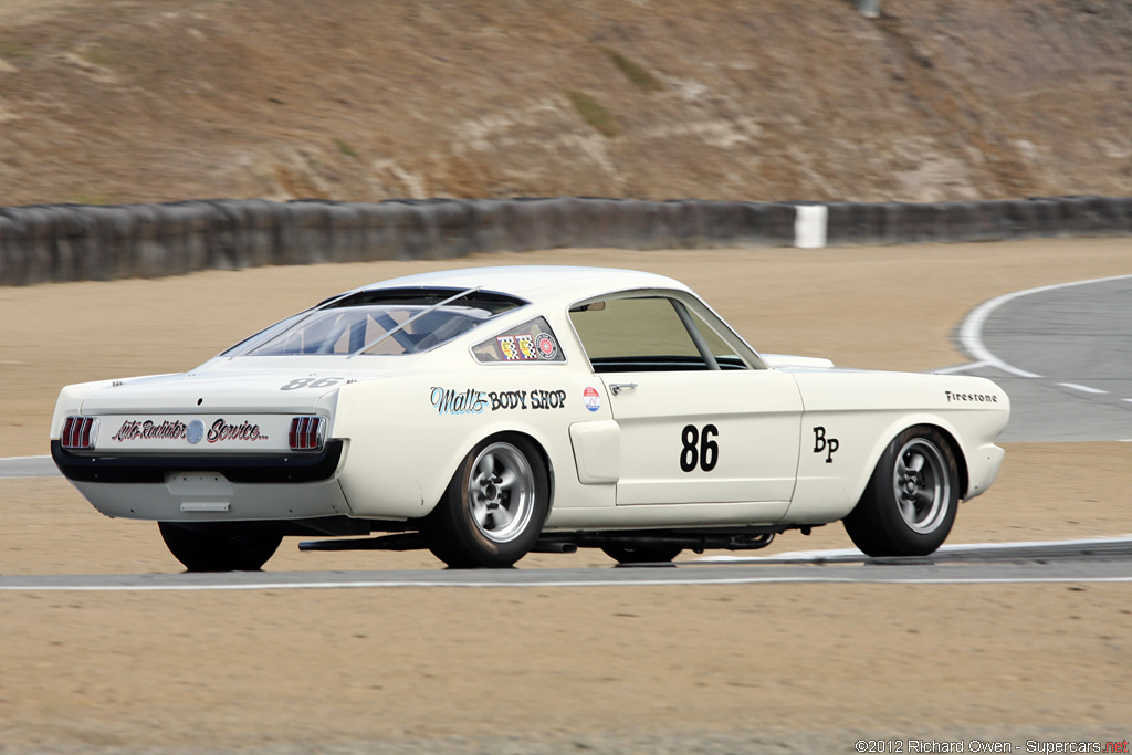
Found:
[[625, 752], [609, 744], [645, 732], [1060, 726], [1120, 740], [1127, 598], [1064, 584], [5, 594], [0, 736]]

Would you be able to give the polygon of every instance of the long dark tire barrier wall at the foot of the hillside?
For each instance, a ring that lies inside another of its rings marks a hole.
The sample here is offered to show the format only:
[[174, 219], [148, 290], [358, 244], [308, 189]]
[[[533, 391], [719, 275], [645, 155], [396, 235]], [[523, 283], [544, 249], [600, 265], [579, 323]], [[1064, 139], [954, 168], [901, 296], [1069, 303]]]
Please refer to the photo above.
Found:
[[[824, 212], [812, 212], [822, 207]], [[824, 229], [813, 228], [813, 222]], [[33, 205], [0, 208], [0, 285], [555, 248], [808, 247], [815, 244], [804, 238], [844, 246], [1130, 234], [1132, 197], [1096, 196], [936, 204], [558, 197]]]

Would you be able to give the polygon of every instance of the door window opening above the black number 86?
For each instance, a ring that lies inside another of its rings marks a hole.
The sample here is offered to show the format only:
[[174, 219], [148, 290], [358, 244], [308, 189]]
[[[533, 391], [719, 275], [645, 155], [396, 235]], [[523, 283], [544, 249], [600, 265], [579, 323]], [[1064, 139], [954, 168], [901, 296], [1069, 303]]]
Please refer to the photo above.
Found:
[[[700, 345], [681, 319], [681, 309]], [[598, 372], [714, 369], [701, 346], [719, 368], [746, 369], [701, 317], [668, 297], [608, 299], [576, 308], [569, 316]]]

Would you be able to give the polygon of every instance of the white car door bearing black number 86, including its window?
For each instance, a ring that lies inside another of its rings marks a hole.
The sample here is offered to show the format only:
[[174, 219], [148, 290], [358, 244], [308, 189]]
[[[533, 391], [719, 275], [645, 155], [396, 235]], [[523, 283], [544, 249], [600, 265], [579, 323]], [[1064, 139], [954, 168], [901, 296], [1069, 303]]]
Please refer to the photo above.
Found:
[[790, 500], [801, 396], [695, 297], [643, 291], [571, 320], [620, 428], [617, 504]]

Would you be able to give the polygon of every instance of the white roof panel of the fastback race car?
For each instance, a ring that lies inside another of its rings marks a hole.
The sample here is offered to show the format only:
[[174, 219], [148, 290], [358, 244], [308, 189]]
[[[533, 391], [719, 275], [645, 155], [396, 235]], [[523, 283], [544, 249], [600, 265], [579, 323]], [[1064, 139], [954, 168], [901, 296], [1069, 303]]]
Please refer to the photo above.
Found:
[[614, 267], [580, 267], [566, 265], [512, 265], [506, 267], [464, 267], [406, 275], [378, 281], [359, 291], [381, 289], [473, 289], [508, 293], [532, 303], [578, 301], [616, 291], [636, 289], [675, 289], [689, 291], [686, 285], [670, 277], [641, 271]]

